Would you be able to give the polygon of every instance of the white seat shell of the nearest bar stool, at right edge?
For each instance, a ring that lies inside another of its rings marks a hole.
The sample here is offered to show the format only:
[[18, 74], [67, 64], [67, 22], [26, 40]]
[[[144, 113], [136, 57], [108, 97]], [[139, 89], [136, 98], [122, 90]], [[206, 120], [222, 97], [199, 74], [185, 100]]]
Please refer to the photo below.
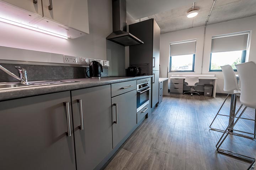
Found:
[[252, 61], [237, 64], [241, 83], [240, 102], [247, 107], [256, 108], [256, 64]]

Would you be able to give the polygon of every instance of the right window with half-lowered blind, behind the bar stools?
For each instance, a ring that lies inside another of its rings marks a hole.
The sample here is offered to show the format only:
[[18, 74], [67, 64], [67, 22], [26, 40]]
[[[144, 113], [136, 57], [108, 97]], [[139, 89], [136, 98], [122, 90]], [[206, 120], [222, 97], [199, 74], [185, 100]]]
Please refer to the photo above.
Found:
[[222, 71], [220, 66], [244, 63], [249, 33], [216, 36], [212, 38], [209, 71]]

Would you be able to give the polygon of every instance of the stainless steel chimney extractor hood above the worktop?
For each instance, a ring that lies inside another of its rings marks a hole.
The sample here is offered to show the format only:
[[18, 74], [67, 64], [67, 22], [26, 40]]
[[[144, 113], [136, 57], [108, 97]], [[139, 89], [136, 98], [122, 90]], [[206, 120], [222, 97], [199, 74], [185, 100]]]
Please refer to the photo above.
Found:
[[126, 0], [112, 0], [113, 33], [107, 40], [122, 46], [144, 44], [136, 36], [126, 32]]

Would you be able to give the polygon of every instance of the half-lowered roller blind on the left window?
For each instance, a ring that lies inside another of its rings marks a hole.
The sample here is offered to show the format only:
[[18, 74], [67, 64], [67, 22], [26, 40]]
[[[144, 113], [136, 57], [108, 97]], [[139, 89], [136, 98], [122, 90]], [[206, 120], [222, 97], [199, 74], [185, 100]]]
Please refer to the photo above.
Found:
[[196, 40], [170, 44], [170, 56], [180, 56], [196, 53]]

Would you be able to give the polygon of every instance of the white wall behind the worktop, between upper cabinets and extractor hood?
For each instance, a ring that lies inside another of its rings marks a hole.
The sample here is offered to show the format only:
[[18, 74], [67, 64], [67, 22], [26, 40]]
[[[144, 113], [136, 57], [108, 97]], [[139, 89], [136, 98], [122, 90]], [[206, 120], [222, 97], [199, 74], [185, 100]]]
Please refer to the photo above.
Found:
[[[88, 0], [90, 34], [77, 39], [66, 40], [0, 22], [0, 46], [107, 60], [106, 37], [112, 32], [111, 3]], [[40, 56], [31, 57], [40, 61]]]

